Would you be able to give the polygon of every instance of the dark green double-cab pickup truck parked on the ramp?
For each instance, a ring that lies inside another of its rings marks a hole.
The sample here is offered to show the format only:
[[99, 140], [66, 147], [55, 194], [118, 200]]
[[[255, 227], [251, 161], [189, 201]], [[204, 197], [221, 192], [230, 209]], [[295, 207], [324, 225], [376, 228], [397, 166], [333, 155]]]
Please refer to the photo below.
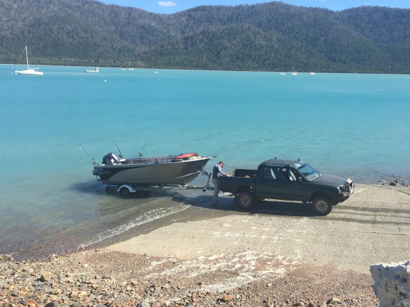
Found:
[[219, 177], [219, 189], [235, 195], [243, 208], [263, 199], [301, 201], [311, 204], [319, 215], [347, 200], [354, 191], [353, 181], [316, 171], [300, 160], [270, 159], [257, 170], [234, 169]]

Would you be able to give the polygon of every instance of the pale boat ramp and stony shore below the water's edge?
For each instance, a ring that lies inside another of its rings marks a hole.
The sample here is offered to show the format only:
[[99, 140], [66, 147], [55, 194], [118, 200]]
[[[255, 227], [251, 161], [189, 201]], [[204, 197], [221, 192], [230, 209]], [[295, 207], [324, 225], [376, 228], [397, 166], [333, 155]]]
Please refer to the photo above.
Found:
[[370, 265], [410, 254], [408, 187], [356, 185], [324, 217], [283, 201], [185, 204], [48, 261], [3, 256], [0, 305], [377, 306]]

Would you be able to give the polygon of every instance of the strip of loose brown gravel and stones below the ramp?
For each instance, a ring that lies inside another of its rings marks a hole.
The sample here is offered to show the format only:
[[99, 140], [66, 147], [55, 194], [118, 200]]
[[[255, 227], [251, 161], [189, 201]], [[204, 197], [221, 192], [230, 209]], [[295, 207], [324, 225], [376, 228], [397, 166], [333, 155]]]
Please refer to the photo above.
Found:
[[[295, 266], [269, 256], [258, 259], [255, 267], [244, 273], [242, 267], [228, 269], [224, 264], [226, 258], [207, 258], [195, 263], [107, 250], [53, 256], [43, 262], [14, 262], [3, 257], [0, 305], [378, 305], [368, 274], [330, 267]], [[251, 258], [247, 254], [235, 262]], [[260, 266], [267, 262], [282, 270], [264, 273], [263, 278], [258, 278], [258, 271], [263, 269]]]

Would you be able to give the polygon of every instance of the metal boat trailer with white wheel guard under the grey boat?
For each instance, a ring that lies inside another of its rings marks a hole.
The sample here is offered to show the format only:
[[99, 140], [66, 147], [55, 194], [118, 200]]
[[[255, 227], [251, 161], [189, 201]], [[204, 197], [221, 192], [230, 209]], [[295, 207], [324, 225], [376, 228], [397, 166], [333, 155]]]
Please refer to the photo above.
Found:
[[138, 184], [122, 184], [118, 187], [118, 185], [109, 185], [107, 190], [110, 190], [113, 186], [118, 187], [116, 191], [120, 193], [124, 197], [128, 197], [131, 193], [135, 193], [136, 191], [156, 191], [158, 189], [173, 189], [173, 188], [180, 188], [186, 190], [202, 190], [202, 192], [206, 192], [207, 190], [214, 190], [214, 187], [210, 186], [212, 173], [208, 170], [201, 170], [201, 174], [208, 177], [207, 184], [205, 186], [197, 186], [193, 184], [161, 184], [161, 185], [138, 185]]

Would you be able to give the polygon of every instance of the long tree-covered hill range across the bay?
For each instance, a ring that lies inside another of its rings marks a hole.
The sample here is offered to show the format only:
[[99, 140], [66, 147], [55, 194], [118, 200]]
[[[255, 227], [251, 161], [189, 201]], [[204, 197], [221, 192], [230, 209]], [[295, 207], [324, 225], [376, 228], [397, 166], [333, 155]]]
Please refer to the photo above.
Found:
[[410, 73], [410, 10], [270, 2], [155, 14], [89, 0], [0, 0], [0, 62]]

